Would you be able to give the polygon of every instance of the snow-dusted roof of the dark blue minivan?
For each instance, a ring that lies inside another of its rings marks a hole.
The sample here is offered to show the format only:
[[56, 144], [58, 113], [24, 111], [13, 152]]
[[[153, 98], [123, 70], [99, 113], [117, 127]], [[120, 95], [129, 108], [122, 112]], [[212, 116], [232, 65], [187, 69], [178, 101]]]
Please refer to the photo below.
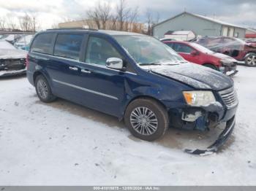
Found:
[[58, 28], [58, 29], [48, 29], [46, 31], [42, 31], [41, 33], [45, 32], [81, 32], [81, 33], [90, 33], [90, 34], [108, 34], [110, 36], [116, 35], [140, 35], [144, 36], [143, 34], [132, 33], [127, 31], [110, 31], [110, 30], [95, 30], [95, 29], [78, 29], [78, 28]]

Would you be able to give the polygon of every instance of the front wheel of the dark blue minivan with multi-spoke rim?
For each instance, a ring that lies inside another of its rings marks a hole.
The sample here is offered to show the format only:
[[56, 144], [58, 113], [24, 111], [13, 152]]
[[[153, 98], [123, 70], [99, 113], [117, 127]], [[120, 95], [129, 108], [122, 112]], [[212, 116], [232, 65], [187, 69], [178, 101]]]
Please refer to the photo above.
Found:
[[[143, 117], [143, 113], [146, 117]], [[159, 139], [169, 127], [166, 109], [150, 98], [138, 98], [132, 101], [125, 111], [124, 122], [133, 136], [145, 141]]]

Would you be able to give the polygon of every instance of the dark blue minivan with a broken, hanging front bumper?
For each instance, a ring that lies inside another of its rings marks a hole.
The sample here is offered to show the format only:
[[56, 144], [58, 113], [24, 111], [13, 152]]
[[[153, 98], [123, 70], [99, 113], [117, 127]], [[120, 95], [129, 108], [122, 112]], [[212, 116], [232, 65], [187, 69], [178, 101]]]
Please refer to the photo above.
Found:
[[151, 36], [42, 31], [34, 36], [26, 63], [41, 101], [64, 98], [124, 119], [130, 132], [146, 141], [159, 139], [168, 127], [209, 130], [223, 122], [225, 130], [206, 149], [216, 151], [235, 126], [233, 80], [188, 63]]

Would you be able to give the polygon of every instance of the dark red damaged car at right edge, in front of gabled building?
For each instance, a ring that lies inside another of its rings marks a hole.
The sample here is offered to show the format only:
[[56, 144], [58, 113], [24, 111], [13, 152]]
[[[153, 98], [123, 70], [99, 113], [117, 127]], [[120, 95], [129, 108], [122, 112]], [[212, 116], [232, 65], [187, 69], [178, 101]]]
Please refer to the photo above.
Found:
[[256, 44], [233, 37], [203, 37], [197, 39], [197, 44], [225, 55], [230, 55], [238, 61], [244, 61], [246, 66], [256, 66]]

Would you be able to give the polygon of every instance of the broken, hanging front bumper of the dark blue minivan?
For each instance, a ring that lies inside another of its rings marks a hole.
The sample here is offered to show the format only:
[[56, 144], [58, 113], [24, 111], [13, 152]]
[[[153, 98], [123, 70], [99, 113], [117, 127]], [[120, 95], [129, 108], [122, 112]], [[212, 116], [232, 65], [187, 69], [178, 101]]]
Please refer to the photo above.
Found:
[[170, 121], [174, 127], [182, 127], [190, 130], [212, 130], [217, 125], [225, 124], [225, 129], [219, 134], [214, 144], [206, 149], [185, 149], [185, 152], [194, 155], [204, 155], [217, 152], [222, 147], [228, 137], [233, 132], [236, 123], [236, 110], [238, 108], [238, 98], [233, 87], [221, 90], [216, 93], [215, 101], [207, 106], [192, 107], [187, 106], [170, 112]]

